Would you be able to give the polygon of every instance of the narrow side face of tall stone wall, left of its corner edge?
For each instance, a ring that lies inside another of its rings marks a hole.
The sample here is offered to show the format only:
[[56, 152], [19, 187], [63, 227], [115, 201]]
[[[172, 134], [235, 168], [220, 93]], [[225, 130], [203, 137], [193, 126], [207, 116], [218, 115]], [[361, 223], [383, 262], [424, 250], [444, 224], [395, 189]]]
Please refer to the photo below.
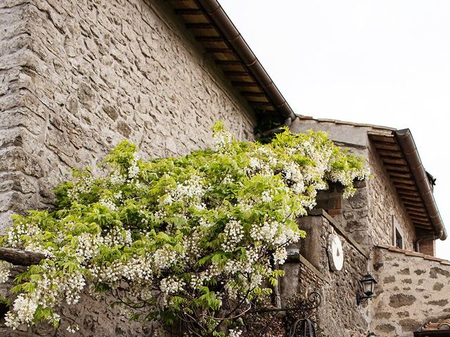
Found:
[[0, 1], [0, 230], [11, 213], [34, 205], [34, 181], [41, 175], [37, 162], [20, 151], [23, 126], [28, 124], [23, 118], [27, 114], [23, 73], [31, 43], [27, 2]]

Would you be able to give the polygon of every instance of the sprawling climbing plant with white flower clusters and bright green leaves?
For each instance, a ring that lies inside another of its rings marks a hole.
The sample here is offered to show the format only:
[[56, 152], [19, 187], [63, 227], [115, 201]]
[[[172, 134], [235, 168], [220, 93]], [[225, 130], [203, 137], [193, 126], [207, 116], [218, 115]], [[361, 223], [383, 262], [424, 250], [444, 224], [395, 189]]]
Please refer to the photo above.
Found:
[[[102, 175], [74, 171], [56, 188], [54, 211], [14, 216], [0, 245], [47, 258], [15, 277], [6, 324], [58, 326], [60, 306], [86, 289], [161, 329], [240, 336], [240, 317], [282, 276], [286, 246], [305, 237], [296, 219], [317, 191], [339, 182], [349, 196], [368, 173], [322, 132], [286, 129], [262, 145], [238, 142], [217, 123], [213, 138], [214, 150], [148, 161], [122, 142]], [[0, 281], [9, 267], [1, 263]]]

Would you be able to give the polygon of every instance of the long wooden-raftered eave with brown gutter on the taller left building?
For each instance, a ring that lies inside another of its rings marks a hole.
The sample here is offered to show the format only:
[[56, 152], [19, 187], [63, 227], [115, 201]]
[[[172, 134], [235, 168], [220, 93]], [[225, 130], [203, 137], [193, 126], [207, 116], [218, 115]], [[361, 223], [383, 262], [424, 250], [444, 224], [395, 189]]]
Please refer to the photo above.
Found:
[[269, 119], [297, 116], [217, 0], [168, 0], [238, 93]]

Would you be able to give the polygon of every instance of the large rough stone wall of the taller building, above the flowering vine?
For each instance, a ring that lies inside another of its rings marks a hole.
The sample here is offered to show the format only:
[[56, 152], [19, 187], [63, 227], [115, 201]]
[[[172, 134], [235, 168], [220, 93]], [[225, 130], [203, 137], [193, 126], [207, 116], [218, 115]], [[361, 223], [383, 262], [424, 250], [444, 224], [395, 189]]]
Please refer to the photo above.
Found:
[[[255, 118], [164, 1], [0, 1], [0, 230], [46, 208], [69, 169], [130, 139], [144, 157], [210, 145]], [[6, 27], [6, 28], [5, 28]]]

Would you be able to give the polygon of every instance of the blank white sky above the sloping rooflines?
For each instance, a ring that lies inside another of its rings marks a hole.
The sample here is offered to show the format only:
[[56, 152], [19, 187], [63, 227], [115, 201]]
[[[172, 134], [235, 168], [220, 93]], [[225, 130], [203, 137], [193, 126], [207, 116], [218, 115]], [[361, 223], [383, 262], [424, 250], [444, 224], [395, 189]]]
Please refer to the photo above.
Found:
[[411, 129], [450, 260], [450, 1], [219, 1], [295, 113]]

